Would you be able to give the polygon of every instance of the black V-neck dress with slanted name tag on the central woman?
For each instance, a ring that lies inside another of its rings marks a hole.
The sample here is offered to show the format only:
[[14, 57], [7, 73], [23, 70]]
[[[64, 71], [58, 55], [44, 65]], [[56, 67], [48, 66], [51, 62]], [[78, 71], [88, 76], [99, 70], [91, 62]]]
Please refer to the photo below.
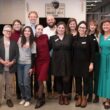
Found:
[[57, 35], [50, 37], [52, 54], [52, 73], [55, 76], [68, 76], [72, 74], [72, 42], [73, 37], [65, 35], [62, 40]]

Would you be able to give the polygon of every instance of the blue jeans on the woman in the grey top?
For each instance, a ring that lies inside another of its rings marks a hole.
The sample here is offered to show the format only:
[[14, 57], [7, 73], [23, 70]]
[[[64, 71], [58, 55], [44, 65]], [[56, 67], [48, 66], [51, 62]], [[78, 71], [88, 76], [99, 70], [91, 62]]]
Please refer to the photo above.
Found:
[[18, 64], [18, 84], [20, 87], [22, 99], [26, 101], [31, 100], [31, 77], [29, 75], [29, 69], [31, 64]]

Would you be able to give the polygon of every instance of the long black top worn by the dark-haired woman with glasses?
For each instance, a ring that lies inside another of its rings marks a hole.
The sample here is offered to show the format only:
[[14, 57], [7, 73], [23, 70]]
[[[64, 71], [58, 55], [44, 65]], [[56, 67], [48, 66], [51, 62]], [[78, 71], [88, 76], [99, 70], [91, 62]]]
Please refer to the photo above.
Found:
[[77, 77], [88, 77], [89, 64], [94, 60], [94, 46], [87, 37], [74, 37], [73, 40], [73, 73]]

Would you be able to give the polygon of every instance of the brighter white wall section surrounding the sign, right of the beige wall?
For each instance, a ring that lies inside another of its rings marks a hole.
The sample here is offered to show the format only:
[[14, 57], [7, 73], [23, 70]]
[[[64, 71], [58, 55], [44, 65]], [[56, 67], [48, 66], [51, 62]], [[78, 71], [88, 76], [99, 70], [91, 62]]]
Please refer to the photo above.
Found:
[[[28, 11], [36, 10], [40, 17], [45, 17], [45, 4], [53, 0], [26, 0], [26, 16]], [[86, 19], [86, 0], [57, 0], [65, 4], [65, 17], [74, 17], [77, 21]], [[28, 19], [26, 19], [28, 22]]]

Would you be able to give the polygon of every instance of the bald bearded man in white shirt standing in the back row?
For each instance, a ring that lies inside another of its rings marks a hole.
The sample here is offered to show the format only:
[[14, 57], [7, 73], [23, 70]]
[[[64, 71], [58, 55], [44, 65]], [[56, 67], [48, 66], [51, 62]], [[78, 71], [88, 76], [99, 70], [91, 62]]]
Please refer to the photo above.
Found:
[[[48, 35], [48, 39], [50, 39], [51, 36], [56, 34], [56, 21], [55, 18], [52, 15], [47, 16], [46, 18], [47, 27], [44, 28], [43, 33]], [[50, 56], [52, 56], [52, 51], [50, 52]], [[49, 74], [48, 74], [48, 80], [46, 82], [47, 85], [47, 92], [48, 92], [48, 98], [52, 98], [52, 90], [54, 93], [56, 92], [55, 87], [55, 78], [54, 78], [54, 85], [52, 87], [52, 71], [51, 71], [51, 64], [49, 68]]]

